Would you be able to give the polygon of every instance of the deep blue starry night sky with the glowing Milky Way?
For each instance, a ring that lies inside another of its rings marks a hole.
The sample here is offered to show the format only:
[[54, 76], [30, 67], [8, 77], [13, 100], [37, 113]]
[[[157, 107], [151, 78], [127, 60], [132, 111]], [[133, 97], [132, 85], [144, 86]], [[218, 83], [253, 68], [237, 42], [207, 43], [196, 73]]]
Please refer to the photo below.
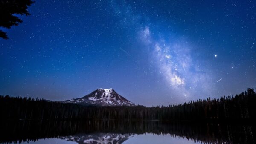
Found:
[[113, 88], [169, 105], [256, 86], [255, 0], [36, 0], [0, 39], [0, 94]]

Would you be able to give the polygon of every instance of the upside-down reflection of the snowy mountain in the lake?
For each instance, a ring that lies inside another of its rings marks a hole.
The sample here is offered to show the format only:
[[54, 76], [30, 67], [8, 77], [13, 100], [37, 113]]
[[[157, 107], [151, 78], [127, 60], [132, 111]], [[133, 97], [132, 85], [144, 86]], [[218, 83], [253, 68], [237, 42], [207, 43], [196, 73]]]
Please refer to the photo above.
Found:
[[75, 141], [78, 144], [121, 144], [136, 134], [131, 133], [93, 133], [60, 136], [58, 138], [66, 141]]

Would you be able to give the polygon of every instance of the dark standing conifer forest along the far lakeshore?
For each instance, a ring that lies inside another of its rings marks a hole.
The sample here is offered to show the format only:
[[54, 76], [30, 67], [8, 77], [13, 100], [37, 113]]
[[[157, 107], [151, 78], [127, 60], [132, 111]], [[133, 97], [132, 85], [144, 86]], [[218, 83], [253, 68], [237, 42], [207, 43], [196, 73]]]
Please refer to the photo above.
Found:
[[252, 88], [235, 96], [189, 101], [156, 107], [82, 106], [38, 98], [0, 96], [2, 119], [22, 120], [161, 120], [207, 121], [255, 119], [256, 92]]

